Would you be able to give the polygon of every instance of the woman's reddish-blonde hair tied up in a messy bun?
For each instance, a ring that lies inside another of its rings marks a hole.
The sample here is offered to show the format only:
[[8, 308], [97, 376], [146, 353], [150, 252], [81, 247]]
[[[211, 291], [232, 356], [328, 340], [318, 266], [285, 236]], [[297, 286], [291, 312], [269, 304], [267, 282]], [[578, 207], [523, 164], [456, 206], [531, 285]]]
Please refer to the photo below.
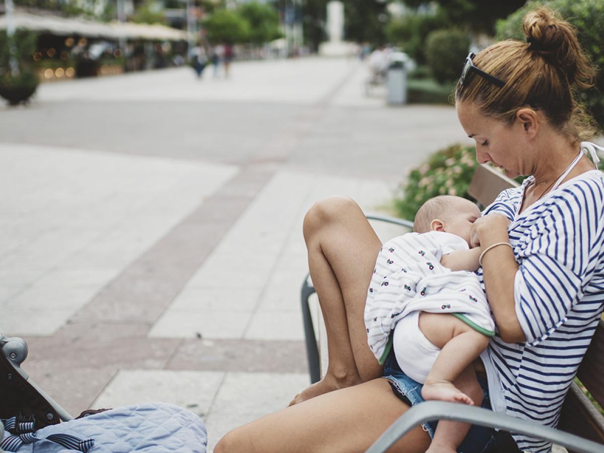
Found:
[[573, 25], [548, 8], [524, 17], [527, 42], [508, 39], [474, 58], [482, 71], [506, 82], [493, 85], [472, 74], [455, 89], [455, 101], [477, 104], [484, 115], [512, 124], [524, 107], [544, 112], [548, 123], [574, 143], [593, 137], [593, 120], [577, 104], [575, 87], [593, 86], [596, 69], [580, 48]]

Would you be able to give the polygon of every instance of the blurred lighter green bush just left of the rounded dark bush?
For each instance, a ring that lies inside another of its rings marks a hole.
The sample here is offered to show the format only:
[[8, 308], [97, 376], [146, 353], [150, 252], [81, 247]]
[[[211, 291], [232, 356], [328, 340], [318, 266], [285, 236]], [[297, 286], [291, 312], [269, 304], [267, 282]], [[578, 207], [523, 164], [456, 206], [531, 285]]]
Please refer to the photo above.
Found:
[[386, 37], [389, 42], [394, 43], [417, 64], [426, 62], [424, 43], [426, 36], [431, 31], [439, 30], [447, 26], [443, 14], [406, 14], [400, 18], [392, 19], [386, 27]]

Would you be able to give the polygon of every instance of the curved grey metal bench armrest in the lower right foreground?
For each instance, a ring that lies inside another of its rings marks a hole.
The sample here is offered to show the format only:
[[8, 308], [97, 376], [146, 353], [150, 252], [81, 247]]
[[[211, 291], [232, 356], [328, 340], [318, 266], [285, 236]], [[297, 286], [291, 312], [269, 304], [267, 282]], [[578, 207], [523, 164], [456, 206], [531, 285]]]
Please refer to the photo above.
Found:
[[408, 431], [420, 423], [431, 422], [432, 420], [456, 420], [472, 425], [500, 428], [505, 431], [544, 439], [580, 453], [601, 453], [604, 449], [604, 446], [599, 443], [530, 420], [518, 419], [475, 406], [443, 401], [426, 401], [413, 406], [399, 417], [370, 446], [367, 453], [385, 452]]

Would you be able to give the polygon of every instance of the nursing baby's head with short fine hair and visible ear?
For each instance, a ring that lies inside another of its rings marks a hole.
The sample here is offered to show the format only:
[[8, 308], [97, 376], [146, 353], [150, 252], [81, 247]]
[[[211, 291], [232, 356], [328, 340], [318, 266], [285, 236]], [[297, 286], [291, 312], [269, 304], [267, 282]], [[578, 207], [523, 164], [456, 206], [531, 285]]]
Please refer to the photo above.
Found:
[[413, 231], [445, 231], [461, 237], [470, 245], [472, 223], [480, 217], [477, 205], [465, 198], [440, 195], [426, 201], [417, 211]]

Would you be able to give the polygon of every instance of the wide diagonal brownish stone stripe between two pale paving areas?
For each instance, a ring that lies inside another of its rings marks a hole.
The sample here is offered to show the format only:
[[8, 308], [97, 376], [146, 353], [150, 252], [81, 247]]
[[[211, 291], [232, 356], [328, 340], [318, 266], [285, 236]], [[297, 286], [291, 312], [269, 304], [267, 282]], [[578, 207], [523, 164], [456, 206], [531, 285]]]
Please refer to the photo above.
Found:
[[150, 328], [273, 173], [264, 166], [243, 169], [124, 269], [72, 323], [132, 321]]

